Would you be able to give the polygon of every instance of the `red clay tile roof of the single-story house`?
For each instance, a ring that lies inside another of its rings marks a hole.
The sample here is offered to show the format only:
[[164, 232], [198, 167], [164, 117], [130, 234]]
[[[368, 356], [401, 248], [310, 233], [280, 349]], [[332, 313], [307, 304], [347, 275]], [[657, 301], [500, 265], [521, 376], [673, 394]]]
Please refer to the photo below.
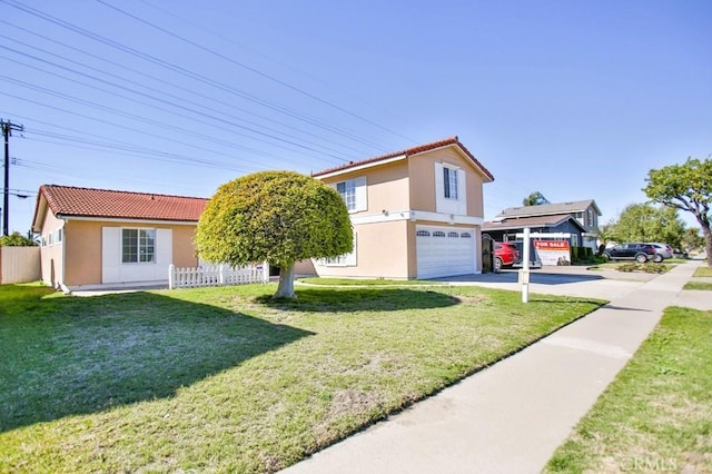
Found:
[[208, 199], [196, 197], [57, 185], [40, 186], [39, 195], [47, 199], [55, 215], [140, 220], [197, 223], [208, 203]]

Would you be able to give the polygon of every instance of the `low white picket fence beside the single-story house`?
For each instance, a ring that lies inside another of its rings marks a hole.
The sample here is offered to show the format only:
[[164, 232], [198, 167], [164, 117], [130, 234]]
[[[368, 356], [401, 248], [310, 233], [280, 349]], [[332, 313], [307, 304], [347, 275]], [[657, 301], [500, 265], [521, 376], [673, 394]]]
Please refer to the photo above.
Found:
[[169, 288], [195, 288], [198, 286], [246, 285], [269, 283], [267, 264], [234, 268], [229, 265], [201, 265], [194, 268], [168, 267]]

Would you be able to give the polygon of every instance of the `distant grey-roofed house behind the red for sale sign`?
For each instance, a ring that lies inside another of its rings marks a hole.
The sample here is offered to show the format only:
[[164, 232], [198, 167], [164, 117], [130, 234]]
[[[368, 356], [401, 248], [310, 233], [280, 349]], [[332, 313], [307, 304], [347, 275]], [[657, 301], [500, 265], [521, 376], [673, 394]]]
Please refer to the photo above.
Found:
[[566, 233], [571, 234], [567, 239], [571, 246], [590, 247], [595, 251], [599, 216], [601, 210], [593, 199], [510, 207], [485, 223], [482, 229], [497, 241], [521, 240], [515, 235], [525, 227], [536, 233]]

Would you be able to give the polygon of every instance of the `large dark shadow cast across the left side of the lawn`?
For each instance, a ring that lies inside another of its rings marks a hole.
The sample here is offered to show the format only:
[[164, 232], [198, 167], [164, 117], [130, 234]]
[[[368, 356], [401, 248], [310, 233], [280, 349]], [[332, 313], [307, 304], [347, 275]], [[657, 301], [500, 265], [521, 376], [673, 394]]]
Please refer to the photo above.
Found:
[[161, 294], [39, 296], [0, 312], [0, 433], [171, 397], [309, 335]]

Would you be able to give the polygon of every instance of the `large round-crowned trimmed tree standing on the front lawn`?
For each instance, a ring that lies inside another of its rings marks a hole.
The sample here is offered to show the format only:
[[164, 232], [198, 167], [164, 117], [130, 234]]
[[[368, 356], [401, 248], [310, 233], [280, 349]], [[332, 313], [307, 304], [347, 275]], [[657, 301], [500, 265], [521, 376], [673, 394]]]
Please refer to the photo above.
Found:
[[217, 190], [200, 216], [198, 255], [206, 261], [279, 267], [275, 297], [295, 298], [294, 265], [352, 251], [348, 210], [335, 189], [293, 171], [255, 172]]

